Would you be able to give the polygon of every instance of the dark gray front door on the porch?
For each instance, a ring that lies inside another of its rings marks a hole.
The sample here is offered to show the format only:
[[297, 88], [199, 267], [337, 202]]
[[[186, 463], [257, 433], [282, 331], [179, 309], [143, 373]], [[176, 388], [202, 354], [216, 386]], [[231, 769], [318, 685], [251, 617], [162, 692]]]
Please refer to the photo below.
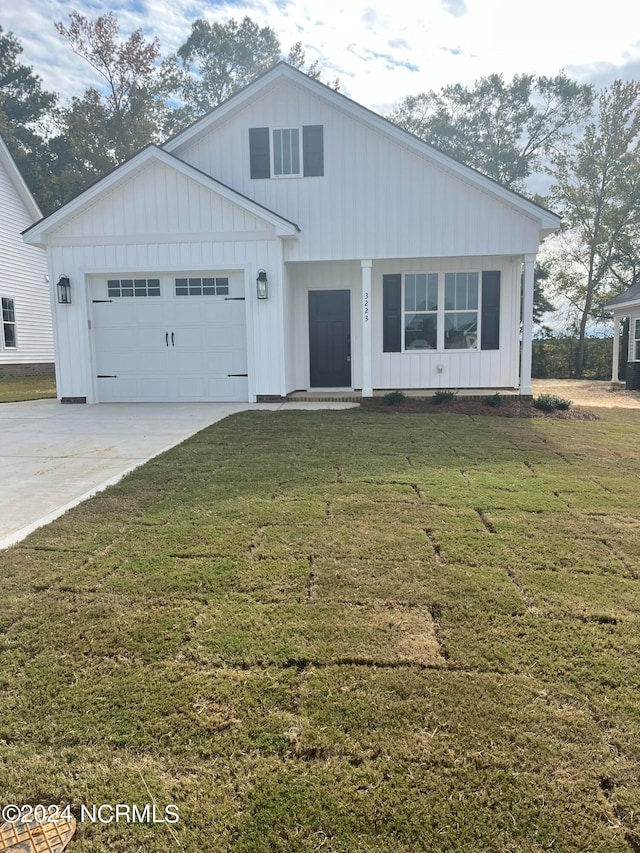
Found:
[[312, 388], [351, 387], [351, 291], [309, 291]]

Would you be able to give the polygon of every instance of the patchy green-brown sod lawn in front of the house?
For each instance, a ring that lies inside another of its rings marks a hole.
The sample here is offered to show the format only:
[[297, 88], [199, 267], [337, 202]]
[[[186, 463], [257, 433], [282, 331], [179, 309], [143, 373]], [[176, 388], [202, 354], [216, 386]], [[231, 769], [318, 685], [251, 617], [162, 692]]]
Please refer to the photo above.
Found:
[[70, 853], [639, 851], [600, 415], [244, 413], [0, 552], [0, 800], [179, 810]]

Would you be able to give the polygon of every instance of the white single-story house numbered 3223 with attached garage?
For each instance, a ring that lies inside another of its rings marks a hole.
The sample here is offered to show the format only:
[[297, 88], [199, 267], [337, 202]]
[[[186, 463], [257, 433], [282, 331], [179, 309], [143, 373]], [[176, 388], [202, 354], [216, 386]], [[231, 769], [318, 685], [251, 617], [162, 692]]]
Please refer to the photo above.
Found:
[[530, 394], [533, 267], [559, 225], [280, 63], [25, 240], [69, 282], [63, 400]]

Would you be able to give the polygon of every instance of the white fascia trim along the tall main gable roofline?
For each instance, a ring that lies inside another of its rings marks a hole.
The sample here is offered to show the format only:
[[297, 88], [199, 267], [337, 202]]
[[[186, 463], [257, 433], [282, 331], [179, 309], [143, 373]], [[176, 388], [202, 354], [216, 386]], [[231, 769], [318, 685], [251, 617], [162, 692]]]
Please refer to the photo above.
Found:
[[272, 86], [279, 78], [285, 78], [295, 85], [306, 89], [310, 95], [314, 97], [324, 98], [331, 106], [346, 112], [351, 117], [359, 121], [373, 126], [380, 133], [390, 136], [394, 141], [398, 142], [412, 151], [429, 159], [441, 168], [453, 173], [456, 177], [461, 178], [473, 186], [487, 192], [506, 204], [516, 208], [521, 213], [535, 219], [541, 231], [540, 238], [543, 239], [549, 234], [557, 231], [561, 225], [560, 217], [547, 210], [538, 204], [525, 198], [514, 190], [502, 186], [497, 181], [488, 178], [481, 172], [466, 166], [464, 163], [459, 163], [448, 154], [443, 154], [437, 148], [433, 148], [427, 142], [419, 139], [417, 136], [409, 133], [406, 130], [393, 124], [389, 119], [384, 118], [373, 110], [363, 107], [356, 101], [352, 101], [346, 95], [336, 92], [324, 83], [311, 79], [307, 74], [298, 71], [286, 62], [279, 62], [270, 71], [267, 71], [253, 83], [249, 83], [240, 92], [232, 95], [227, 101], [219, 107], [213, 109], [199, 121], [196, 121], [191, 127], [179, 133], [177, 136], [170, 139], [162, 147], [165, 151], [175, 152], [184, 145], [192, 142], [197, 137], [206, 134], [215, 124], [225, 119], [225, 117], [242, 106], [249, 100], [255, 98], [263, 89]]

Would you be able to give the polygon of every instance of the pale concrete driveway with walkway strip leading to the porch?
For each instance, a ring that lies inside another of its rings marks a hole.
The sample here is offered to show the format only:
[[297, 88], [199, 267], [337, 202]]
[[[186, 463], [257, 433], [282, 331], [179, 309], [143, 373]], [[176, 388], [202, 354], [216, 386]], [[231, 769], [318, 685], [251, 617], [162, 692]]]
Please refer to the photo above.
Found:
[[0, 549], [228, 415], [341, 403], [0, 404]]

